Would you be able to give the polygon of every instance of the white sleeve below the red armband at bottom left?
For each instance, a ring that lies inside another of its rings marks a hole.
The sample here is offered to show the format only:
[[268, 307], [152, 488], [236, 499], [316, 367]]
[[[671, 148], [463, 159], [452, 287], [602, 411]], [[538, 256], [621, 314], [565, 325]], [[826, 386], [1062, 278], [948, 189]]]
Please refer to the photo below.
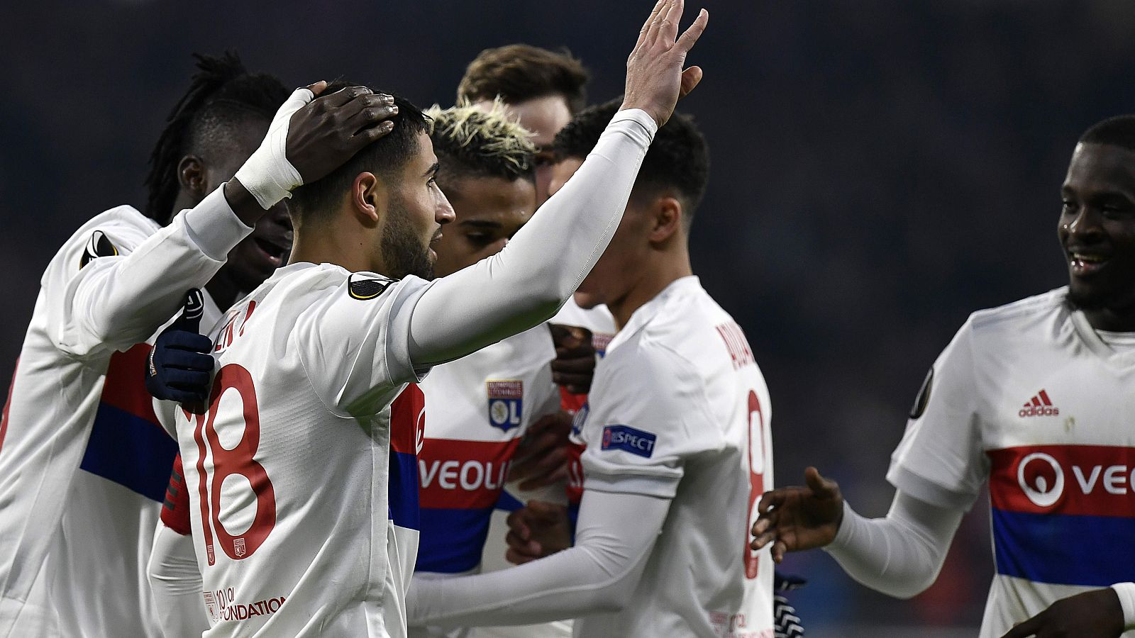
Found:
[[146, 576], [165, 637], [201, 638], [209, 629], [209, 618], [201, 597], [204, 585], [193, 537], [158, 523]]

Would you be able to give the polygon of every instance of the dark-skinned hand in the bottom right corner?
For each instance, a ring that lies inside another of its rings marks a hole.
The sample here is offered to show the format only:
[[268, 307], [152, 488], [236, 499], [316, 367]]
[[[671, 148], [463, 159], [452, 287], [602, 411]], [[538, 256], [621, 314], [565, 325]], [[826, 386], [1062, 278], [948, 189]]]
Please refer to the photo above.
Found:
[[1108, 587], [1061, 598], [1002, 638], [1115, 638], [1123, 632], [1124, 608], [1119, 595]]

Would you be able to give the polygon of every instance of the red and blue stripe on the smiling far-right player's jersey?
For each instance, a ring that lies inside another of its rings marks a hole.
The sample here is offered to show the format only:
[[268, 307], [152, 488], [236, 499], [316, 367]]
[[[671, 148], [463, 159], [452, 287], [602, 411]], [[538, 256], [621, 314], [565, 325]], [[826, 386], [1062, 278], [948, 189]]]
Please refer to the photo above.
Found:
[[1135, 580], [1135, 448], [1034, 445], [986, 454], [998, 573], [1085, 587]]

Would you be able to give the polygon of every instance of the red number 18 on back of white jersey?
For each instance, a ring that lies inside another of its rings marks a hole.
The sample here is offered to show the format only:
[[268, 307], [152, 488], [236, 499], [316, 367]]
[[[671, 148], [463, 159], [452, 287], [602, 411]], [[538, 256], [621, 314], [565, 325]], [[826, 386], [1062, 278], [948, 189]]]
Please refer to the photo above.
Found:
[[[241, 395], [244, 434], [232, 450], [226, 450], [217, 436], [216, 419], [220, 397], [227, 389]], [[268, 472], [253, 456], [260, 447], [260, 411], [257, 406], [257, 388], [252, 375], [244, 367], [229, 363], [220, 369], [213, 380], [208, 417], [196, 415], [193, 438], [197, 444], [197, 490], [201, 497], [201, 529], [205, 539], [209, 564], [216, 562], [213, 555], [213, 531], [225, 554], [234, 561], [251, 556], [276, 527], [276, 490]], [[205, 478], [205, 442], [212, 452], [213, 476]], [[220, 520], [220, 488], [225, 479], [239, 475], [244, 477], [257, 495], [257, 515], [243, 536], [233, 536]], [[210, 494], [211, 497], [210, 497]], [[210, 526], [210, 521], [212, 526]]]

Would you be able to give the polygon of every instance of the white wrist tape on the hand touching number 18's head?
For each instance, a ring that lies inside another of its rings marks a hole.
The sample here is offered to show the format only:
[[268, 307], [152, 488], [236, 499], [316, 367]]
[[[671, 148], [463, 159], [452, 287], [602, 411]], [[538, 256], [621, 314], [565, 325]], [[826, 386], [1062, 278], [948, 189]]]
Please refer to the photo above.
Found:
[[268, 135], [253, 151], [244, 166], [236, 171], [236, 178], [257, 198], [260, 208], [268, 210], [276, 202], [292, 196], [292, 188], [303, 185], [300, 171], [287, 160], [287, 128], [292, 115], [312, 101], [316, 95], [308, 89], [296, 89], [292, 96], [276, 111], [268, 126]]

